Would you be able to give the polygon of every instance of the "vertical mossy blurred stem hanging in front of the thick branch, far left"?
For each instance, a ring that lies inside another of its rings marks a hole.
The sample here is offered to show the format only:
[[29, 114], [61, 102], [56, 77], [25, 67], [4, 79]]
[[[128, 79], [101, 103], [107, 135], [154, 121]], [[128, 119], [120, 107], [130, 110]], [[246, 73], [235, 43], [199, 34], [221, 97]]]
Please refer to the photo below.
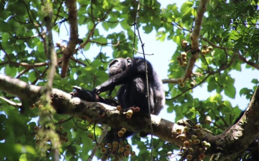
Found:
[[[46, 36], [47, 36], [47, 42], [48, 46], [47, 47], [47, 58], [50, 59], [50, 71], [47, 76], [47, 84], [46, 88], [43, 93], [43, 98], [41, 100], [44, 102], [41, 110], [39, 110], [39, 124], [43, 126], [40, 131], [44, 131], [44, 135], [41, 135], [41, 138], [48, 138], [50, 139], [51, 146], [53, 149], [53, 160], [58, 161], [59, 160], [59, 136], [57, 133], [55, 133], [55, 126], [53, 122], [51, 121], [51, 115], [53, 108], [51, 107], [51, 89], [52, 89], [52, 84], [53, 84], [53, 79], [55, 76], [56, 72], [56, 66], [57, 66], [57, 54], [54, 49], [54, 44], [53, 44], [53, 38], [52, 38], [52, 16], [53, 16], [53, 10], [52, 6], [48, 1], [43, 0], [42, 1], [42, 9], [45, 11], [44, 12], [44, 21], [46, 23]], [[46, 95], [45, 95], [46, 94]], [[39, 132], [41, 133], [41, 132]], [[39, 145], [41, 147], [41, 145]], [[42, 148], [42, 147], [41, 147]]]

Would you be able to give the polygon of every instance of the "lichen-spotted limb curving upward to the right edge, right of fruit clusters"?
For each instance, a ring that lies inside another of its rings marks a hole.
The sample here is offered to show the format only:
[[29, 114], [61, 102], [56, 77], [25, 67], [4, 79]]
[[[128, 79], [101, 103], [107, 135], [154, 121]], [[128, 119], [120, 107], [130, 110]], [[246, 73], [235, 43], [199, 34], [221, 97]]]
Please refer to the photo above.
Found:
[[[209, 138], [209, 142], [214, 142], [216, 147], [221, 147], [223, 151], [214, 151], [212, 156], [221, 156], [218, 160], [224, 160], [233, 154], [238, 154], [253, 142], [259, 134], [259, 86], [244, 112], [241, 119], [222, 134]], [[234, 147], [234, 148], [233, 148]], [[227, 150], [226, 150], [227, 149]], [[221, 153], [221, 155], [215, 155]], [[211, 158], [213, 160], [213, 157]]]

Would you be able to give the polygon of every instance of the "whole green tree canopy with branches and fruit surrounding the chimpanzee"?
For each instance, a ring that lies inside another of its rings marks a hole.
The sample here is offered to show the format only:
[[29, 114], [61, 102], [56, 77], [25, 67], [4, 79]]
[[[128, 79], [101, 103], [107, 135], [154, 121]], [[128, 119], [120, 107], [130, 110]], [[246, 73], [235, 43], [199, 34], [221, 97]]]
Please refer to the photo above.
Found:
[[[157, 136], [153, 160], [249, 159], [258, 152], [258, 145], [247, 146], [259, 134], [259, 82], [254, 78], [252, 88], [243, 84], [237, 91], [229, 73], [245, 65], [258, 74], [258, 5], [257, 0], [188, 0], [180, 8], [169, 2], [162, 8], [156, 0], [0, 1], [0, 160], [73, 161], [93, 155], [151, 160], [150, 138], [138, 133], [116, 154], [102, 144], [109, 126], [150, 134], [148, 117], [126, 119], [115, 107], [69, 93], [74, 85], [92, 90], [106, 81], [113, 58], [143, 56], [141, 35], [154, 31], [157, 40], [177, 48], [168, 46], [172, 56], [162, 80], [168, 85], [163, 110], [176, 117], [151, 115]], [[69, 38], [55, 42], [54, 33]], [[94, 59], [93, 45], [99, 48]], [[195, 97], [202, 85], [216, 94]], [[222, 93], [231, 99], [244, 95], [250, 104], [242, 112], [246, 107], [233, 107]], [[108, 92], [100, 96], [107, 98]]]

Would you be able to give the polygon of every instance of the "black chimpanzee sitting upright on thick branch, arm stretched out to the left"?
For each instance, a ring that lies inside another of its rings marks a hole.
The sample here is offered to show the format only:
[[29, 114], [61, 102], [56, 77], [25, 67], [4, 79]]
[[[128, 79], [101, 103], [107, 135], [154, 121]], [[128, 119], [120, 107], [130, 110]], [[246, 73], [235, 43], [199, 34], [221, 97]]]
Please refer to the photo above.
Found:
[[[149, 84], [149, 102], [151, 114], [158, 115], [165, 104], [162, 81], [146, 61]], [[122, 109], [139, 107], [139, 114], [148, 114], [148, 100], [146, 97], [146, 73], [143, 58], [117, 58], [109, 64], [109, 80], [93, 89], [99, 94], [112, 91], [116, 85], [122, 85], [117, 92], [117, 98]]]

